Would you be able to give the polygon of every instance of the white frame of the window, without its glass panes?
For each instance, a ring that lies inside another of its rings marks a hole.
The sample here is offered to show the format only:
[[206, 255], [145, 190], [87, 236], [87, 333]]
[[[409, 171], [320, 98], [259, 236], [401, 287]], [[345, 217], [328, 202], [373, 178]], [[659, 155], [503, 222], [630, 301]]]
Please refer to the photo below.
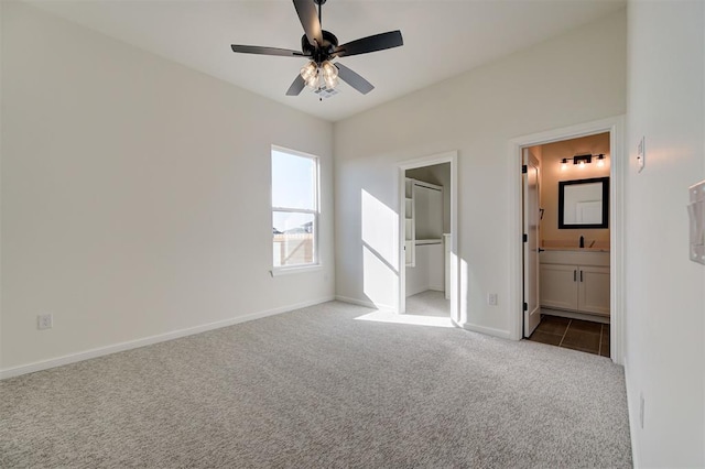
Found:
[[[308, 160], [313, 160], [314, 162], [314, 179], [315, 179], [315, 194], [314, 194], [314, 204], [315, 207], [313, 209], [305, 209], [305, 208], [291, 208], [291, 207], [275, 207], [273, 204], [273, 200], [271, 199], [272, 197], [272, 186], [273, 186], [273, 181], [271, 179], [271, 175], [272, 175], [272, 171], [273, 171], [273, 166], [270, 167], [270, 206], [272, 207], [271, 211], [270, 211], [270, 221], [273, 221], [274, 219], [274, 212], [275, 211], [284, 211], [284, 212], [290, 212], [290, 214], [307, 214], [307, 215], [313, 215], [313, 262], [308, 263], [308, 264], [297, 264], [297, 265], [279, 265], [275, 266], [274, 265], [274, 257], [272, 255], [272, 270], [270, 271], [272, 276], [279, 276], [279, 275], [288, 275], [288, 274], [294, 274], [294, 273], [302, 273], [302, 272], [312, 272], [312, 271], [316, 271], [316, 270], [321, 270], [322, 269], [322, 264], [321, 264], [321, 253], [318, 250], [318, 240], [321, 238], [321, 234], [318, 232], [318, 227], [321, 226], [319, 223], [319, 219], [321, 219], [321, 159], [316, 155], [310, 154], [310, 153], [304, 153], [304, 152], [300, 152], [297, 150], [291, 150], [284, 146], [279, 146], [279, 145], [272, 145], [272, 149], [270, 151], [270, 164], [272, 161], [272, 152], [278, 151], [280, 153], [286, 153], [290, 154], [292, 156], [299, 156], [299, 157], [305, 157]], [[272, 225], [270, 222], [270, 225]], [[270, 228], [270, 232], [271, 232], [271, 228]], [[272, 233], [272, 237], [274, 234]], [[273, 242], [273, 238], [272, 238], [272, 242]]]

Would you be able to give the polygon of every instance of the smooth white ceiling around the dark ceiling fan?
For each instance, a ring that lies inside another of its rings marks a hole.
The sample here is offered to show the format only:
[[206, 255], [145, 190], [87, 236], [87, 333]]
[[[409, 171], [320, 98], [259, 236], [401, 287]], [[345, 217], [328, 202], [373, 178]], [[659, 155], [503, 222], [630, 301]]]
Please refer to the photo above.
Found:
[[[290, 0], [29, 0], [39, 8], [319, 118], [337, 121], [623, 8], [625, 0], [328, 0], [340, 44], [401, 30], [402, 47], [340, 58], [375, 85], [318, 101], [286, 89], [306, 61], [235, 54], [230, 44], [300, 50]], [[313, 1], [313, 0], [312, 0]]]

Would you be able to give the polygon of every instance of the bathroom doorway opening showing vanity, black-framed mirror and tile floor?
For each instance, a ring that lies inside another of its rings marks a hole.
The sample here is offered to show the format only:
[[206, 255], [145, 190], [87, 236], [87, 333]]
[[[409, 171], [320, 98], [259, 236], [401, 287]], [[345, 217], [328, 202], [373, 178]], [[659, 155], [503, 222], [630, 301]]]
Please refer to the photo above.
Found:
[[523, 153], [524, 338], [608, 356], [609, 132]]

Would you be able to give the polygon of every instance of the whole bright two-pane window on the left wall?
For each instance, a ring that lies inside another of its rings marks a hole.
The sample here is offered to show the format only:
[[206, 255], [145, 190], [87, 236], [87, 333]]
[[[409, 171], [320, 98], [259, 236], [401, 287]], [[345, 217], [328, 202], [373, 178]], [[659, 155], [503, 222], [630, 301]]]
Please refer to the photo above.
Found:
[[274, 271], [318, 264], [318, 159], [272, 146]]

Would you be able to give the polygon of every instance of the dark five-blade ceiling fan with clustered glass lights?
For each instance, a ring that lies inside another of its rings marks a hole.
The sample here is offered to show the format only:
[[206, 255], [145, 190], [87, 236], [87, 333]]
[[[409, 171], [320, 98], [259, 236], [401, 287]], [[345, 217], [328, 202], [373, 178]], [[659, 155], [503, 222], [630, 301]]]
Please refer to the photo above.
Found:
[[[293, 0], [299, 20], [304, 26], [301, 37], [301, 52], [289, 48], [262, 47], [258, 45], [232, 44], [232, 52], [243, 54], [280, 55], [284, 57], [306, 57], [310, 62], [291, 84], [288, 96], [297, 96], [306, 85], [321, 91], [332, 90], [338, 85], [338, 78], [352, 88], [367, 95], [375, 87], [357, 73], [340, 63], [330, 61], [350, 55], [367, 54], [404, 44], [401, 31], [389, 31], [338, 45], [338, 39], [321, 28], [321, 11], [326, 0]], [[316, 11], [316, 3], [318, 9]]]

